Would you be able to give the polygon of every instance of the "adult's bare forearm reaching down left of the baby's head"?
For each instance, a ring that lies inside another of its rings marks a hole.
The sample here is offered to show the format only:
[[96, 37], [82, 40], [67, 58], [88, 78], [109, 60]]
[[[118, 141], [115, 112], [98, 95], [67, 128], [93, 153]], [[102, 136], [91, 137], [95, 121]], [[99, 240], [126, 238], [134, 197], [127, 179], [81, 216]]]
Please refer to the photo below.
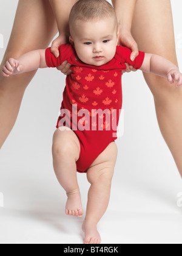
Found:
[[49, 0], [52, 6], [59, 34], [69, 34], [69, 15], [70, 10], [76, 0]]

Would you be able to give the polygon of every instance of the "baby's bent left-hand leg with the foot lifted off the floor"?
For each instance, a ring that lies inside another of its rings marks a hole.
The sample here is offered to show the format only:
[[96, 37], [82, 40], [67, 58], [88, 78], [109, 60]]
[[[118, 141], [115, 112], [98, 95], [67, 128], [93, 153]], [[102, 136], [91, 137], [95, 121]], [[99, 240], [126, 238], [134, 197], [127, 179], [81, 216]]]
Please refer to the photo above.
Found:
[[76, 134], [70, 129], [57, 129], [53, 135], [52, 154], [56, 177], [67, 194], [66, 214], [82, 217], [83, 208], [76, 177], [80, 144]]

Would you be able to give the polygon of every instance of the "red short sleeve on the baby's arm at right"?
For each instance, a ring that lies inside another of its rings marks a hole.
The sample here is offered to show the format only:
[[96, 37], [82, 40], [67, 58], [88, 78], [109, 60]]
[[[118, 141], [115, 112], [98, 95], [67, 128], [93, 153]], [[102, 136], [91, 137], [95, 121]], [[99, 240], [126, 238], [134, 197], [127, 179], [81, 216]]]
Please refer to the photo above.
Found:
[[131, 53], [132, 51], [129, 48], [126, 48], [123, 46], [117, 46], [116, 55], [119, 55], [121, 63], [126, 62], [130, 66], [133, 66], [133, 68], [140, 69], [144, 61], [145, 53], [139, 51], [139, 55], [136, 57], [136, 59], [133, 62], [132, 60], [130, 60]]

